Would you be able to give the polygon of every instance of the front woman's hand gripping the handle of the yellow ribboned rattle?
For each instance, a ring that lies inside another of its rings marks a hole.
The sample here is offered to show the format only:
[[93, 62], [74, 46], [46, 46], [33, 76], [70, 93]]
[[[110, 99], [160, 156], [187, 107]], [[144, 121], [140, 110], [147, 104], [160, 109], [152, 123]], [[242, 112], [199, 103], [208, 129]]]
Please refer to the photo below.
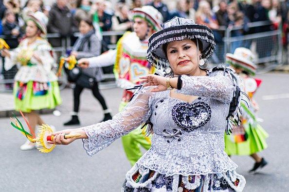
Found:
[[[73, 138], [64, 138], [65, 134], [77, 134], [80, 133], [81, 136], [79, 137], [73, 137]], [[88, 138], [85, 131], [78, 128], [78, 129], [64, 129], [61, 131], [56, 131], [52, 133], [54, 135], [53, 141], [47, 141], [49, 144], [71, 144], [76, 139], [86, 139]]]

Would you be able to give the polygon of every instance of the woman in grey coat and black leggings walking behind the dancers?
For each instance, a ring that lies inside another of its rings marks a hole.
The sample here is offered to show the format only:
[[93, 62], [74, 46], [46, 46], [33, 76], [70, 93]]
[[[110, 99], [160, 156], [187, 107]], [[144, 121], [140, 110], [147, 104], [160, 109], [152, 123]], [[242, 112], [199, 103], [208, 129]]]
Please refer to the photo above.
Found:
[[[81, 36], [76, 40], [75, 44], [73, 45], [73, 49], [71, 55], [74, 55], [76, 59], [80, 58], [87, 58], [87, 57], [95, 57], [100, 55], [101, 44], [97, 36], [95, 35], [95, 31], [92, 25], [92, 21], [89, 18], [82, 19], [79, 24], [79, 32]], [[102, 121], [107, 121], [111, 119], [111, 114], [108, 110], [106, 102], [103, 96], [100, 94], [98, 89], [97, 81], [101, 80], [102, 71], [101, 68], [94, 67], [89, 69], [83, 69], [80, 76], [86, 75], [91, 77], [91, 79], [95, 79], [93, 82], [93, 86], [90, 87], [93, 96], [100, 102], [103, 111], [104, 111], [104, 119]], [[80, 79], [81, 77], [79, 77]], [[89, 81], [88, 78], [83, 78], [85, 81]], [[65, 126], [68, 125], [79, 125], [78, 119], [78, 111], [79, 111], [79, 101], [80, 101], [80, 94], [84, 89], [83, 80], [78, 81], [76, 80], [76, 85], [73, 89], [73, 112], [72, 112], [72, 119], [66, 123]], [[89, 84], [89, 82], [87, 82]]]

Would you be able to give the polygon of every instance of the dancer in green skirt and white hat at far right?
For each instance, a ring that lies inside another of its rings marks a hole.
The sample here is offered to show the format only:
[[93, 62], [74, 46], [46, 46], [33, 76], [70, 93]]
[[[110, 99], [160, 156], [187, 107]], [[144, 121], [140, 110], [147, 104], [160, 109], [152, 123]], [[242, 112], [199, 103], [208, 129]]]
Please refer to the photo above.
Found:
[[249, 173], [256, 173], [260, 168], [267, 165], [267, 161], [257, 153], [267, 148], [265, 139], [268, 133], [259, 125], [255, 112], [258, 110], [257, 103], [253, 100], [253, 94], [261, 83], [254, 79], [256, 65], [255, 57], [247, 48], [236, 48], [234, 54], [226, 54], [226, 63], [235, 68], [236, 73], [242, 77], [244, 89], [251, 99], [252, 107], [247, 108], [244, 103], [242, 107], [242, 125], [233, 129], [233, 134], [225, 134], [225, 152], [231, 155], [247, 155], [255, 160], [253, 168]]

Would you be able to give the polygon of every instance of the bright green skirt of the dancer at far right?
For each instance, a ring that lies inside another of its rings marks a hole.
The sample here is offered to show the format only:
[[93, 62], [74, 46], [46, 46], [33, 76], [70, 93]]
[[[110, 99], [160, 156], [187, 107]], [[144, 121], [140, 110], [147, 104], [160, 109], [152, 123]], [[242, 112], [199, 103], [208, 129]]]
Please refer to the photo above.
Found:
[[248, 124], [245, 131], [246, 137], [243, 137], [246, 138], [243, 139], [245, 141], [239, 139], [236, 142], [234, 134], [225, 134], [225, 152], [228, 155], [248, 156], [267, 148], [265, 139], [268, 138], [269, 134], [259, 124], [256, 124], [255, 127]]

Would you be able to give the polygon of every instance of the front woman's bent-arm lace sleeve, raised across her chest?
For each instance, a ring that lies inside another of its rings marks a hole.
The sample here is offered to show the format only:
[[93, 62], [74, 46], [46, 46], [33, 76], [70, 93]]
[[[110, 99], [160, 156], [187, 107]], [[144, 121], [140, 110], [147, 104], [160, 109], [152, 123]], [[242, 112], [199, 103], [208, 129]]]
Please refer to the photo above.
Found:
[[233, 80], [223, 71], [215, 71], [210, 76], [181, 76], [182, 87], [177, 93], [204, 96], [229, 103], [233, 98], [235, 86]]

